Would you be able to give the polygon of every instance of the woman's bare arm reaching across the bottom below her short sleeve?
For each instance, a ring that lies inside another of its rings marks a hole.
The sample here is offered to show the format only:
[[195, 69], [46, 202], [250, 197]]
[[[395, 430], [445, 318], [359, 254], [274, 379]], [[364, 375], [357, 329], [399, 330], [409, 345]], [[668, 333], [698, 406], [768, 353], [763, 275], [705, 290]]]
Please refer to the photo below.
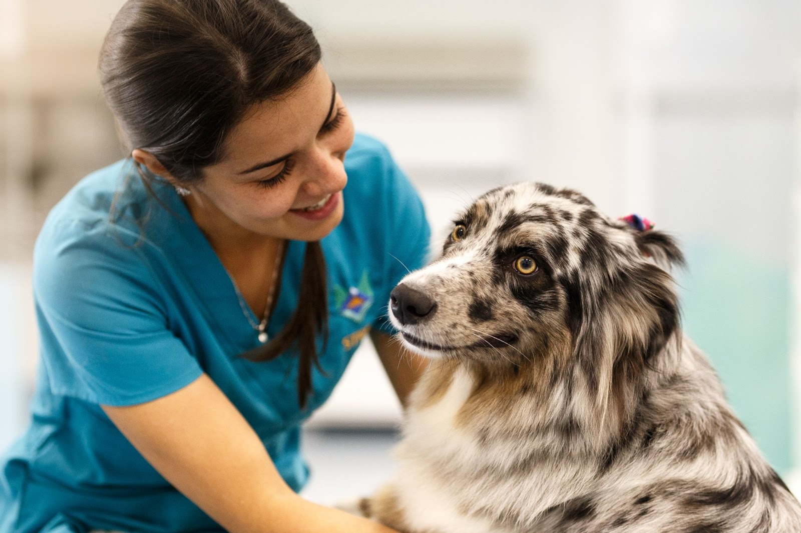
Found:
[[151, 402], [103, 411], [167, 481], [227, 531], [393, 532], [296, 495], [256, 432], [207, 375]]

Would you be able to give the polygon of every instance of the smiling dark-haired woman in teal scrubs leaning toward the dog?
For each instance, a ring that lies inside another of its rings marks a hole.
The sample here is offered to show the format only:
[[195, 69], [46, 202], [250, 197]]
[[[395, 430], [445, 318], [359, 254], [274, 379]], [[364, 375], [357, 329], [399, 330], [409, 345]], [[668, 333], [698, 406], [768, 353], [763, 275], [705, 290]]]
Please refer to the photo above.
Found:
[[401, 401], [416, 378], [383, 316], [429, 241], [408, 179], [280, 2], [131, 0], [100, 74], [131, 157], [39, 235], [0, 532], [391, 531], [296, 491], [300, 424], [364, 335]]

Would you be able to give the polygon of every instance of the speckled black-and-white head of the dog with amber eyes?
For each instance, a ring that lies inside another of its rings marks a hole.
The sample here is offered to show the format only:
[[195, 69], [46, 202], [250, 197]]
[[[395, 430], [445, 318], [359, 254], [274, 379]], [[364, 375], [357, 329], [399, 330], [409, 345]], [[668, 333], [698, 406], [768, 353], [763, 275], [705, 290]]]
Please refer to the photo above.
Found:
[[594, 395], [652, 363], [678, 328], [674, 241], [607, 218], [573, 190], [521, 183], [478, 198], [441, 258], [392, 291], [405, 344], [484, 366], [582, 374]]

